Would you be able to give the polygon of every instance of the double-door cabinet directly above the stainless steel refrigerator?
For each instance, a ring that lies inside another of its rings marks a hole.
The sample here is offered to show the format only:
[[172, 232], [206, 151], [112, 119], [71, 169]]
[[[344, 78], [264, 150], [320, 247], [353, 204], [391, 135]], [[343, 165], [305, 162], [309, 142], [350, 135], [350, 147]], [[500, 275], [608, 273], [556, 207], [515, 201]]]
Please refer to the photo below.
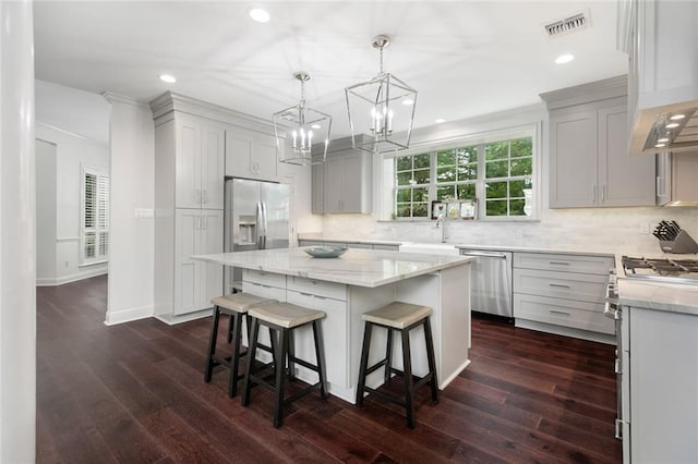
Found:
[[276, 138], [239, 127], [226, 131], [226, 175], [278, 180]]

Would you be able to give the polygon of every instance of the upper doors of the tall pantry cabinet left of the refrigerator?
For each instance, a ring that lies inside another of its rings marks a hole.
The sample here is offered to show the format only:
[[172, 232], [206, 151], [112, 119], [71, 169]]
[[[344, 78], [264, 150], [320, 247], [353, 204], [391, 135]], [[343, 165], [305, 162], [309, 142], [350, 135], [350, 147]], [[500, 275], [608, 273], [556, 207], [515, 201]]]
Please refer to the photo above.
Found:
[[225, 130], [202, 118], [176, 115], [178, 208], [222, 209]]

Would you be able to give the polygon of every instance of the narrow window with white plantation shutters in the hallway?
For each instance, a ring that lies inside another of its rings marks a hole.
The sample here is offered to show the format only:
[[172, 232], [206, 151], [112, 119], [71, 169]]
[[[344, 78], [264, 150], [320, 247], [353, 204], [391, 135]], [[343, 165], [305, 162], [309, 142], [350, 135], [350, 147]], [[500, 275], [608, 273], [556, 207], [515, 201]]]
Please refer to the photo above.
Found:
[[82, 265], [109, 258], [109, 176], [87, 167], [82, 169], [80, 247]]

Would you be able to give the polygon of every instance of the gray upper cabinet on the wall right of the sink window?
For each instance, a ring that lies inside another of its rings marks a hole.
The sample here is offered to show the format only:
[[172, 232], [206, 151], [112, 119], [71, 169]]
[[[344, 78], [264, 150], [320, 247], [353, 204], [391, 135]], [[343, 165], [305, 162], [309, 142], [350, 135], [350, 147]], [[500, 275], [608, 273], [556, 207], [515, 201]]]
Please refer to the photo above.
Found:
[[555, 90], [550, 111], [550, 207], [655, 204], [654, 157], [628, 152], [626, 80]]

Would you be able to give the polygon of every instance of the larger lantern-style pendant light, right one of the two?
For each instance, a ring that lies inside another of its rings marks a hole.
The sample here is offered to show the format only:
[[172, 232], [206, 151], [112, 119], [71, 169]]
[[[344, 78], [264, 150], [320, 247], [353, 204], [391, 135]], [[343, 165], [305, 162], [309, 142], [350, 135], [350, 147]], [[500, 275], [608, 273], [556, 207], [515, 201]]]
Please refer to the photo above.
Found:
[[409, 148], [417, 90], [383, 71], [390, 38], [380, 35], [371, 45], [381, 52], [378, 75], [345, 88], [352, 146], [374, 154]]

